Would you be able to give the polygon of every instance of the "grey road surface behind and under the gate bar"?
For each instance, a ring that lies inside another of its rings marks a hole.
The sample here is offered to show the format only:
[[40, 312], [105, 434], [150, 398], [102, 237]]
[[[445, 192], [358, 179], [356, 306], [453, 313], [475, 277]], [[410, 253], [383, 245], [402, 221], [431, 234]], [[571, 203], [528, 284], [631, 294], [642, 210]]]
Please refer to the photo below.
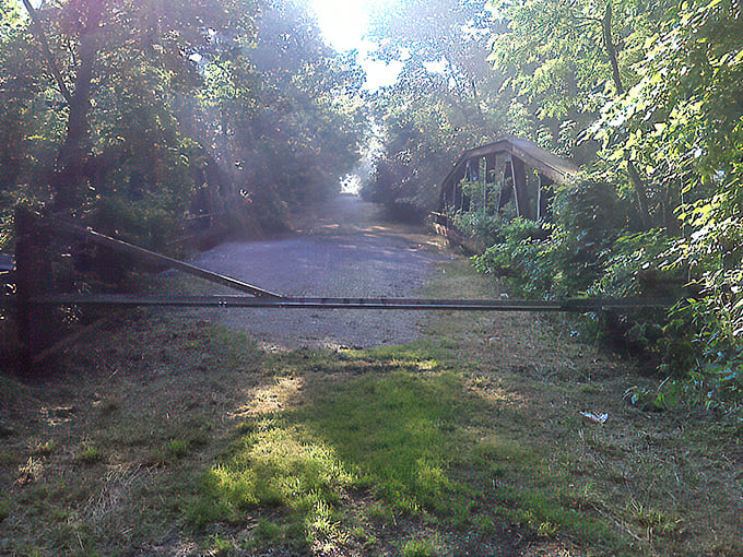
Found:
[[[308, 208], [296, 233], [281, 239], [232, 241], [194, 258], [194, 264], [293, 296], [421, 295], [443, 242], [422, 228], [392, 224], [379, 208], [343, 194]], [[227, 293], [232, 291], [211, 291]], [[246, 329], [271, 348], [370, 347], [417, 337], [424, 313], [374, 310], [220, 309], [194, 318]]]

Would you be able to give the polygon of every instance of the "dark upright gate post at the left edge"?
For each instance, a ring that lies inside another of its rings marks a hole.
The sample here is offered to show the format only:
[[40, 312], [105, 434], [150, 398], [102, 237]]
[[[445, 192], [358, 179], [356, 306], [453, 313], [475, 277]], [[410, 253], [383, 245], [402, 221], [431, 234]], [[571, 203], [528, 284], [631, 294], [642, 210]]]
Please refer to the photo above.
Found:
[[48, 292], [52, 281], [49, 227], [43, 214], [19, 205], [14, 214], [17, 330], [21, 342], [20, 371], [32, 371], [34, 354], [49, 345], [52, 309], [31, 300]]

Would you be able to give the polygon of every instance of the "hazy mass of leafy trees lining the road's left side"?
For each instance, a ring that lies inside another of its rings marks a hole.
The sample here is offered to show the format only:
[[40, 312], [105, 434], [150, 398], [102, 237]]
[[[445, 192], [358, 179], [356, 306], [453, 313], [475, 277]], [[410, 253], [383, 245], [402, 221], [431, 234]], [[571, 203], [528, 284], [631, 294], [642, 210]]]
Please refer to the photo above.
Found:
[[307, 19], [291, 0], [3, 0], [0, 249], [20, 202], [172, 250], [335, 192], [363, 75]]

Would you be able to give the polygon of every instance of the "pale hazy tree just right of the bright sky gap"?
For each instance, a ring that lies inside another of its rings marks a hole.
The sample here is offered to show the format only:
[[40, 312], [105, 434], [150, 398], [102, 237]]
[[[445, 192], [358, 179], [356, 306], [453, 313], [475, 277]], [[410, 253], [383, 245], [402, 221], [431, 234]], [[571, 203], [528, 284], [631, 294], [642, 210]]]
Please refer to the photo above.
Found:
[[485, 2], [403, 1], [377, 15], [377, 57], [403, 61], [398, 83], [377, 94], [384, 153], [366, 194], [432, 210], [456, 157], [502, 132], [499, 78], [486, 63], [494, 22]]

